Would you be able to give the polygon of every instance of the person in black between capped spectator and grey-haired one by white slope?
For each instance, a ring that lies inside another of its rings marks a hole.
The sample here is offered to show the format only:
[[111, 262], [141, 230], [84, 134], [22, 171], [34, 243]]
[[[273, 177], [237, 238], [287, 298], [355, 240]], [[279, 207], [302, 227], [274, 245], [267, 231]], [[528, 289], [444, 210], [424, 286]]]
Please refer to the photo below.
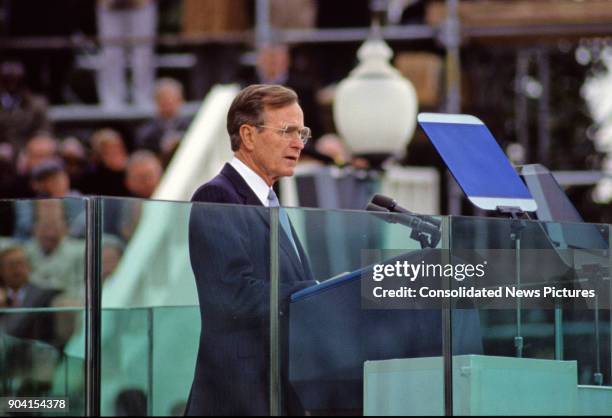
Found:
[[123, 178], [128, 154], [123, 138], [113, 129], [96, 131], [91, 138], [93, 167], [83, 180], [83, 193], [104, 196], [127, 196]]

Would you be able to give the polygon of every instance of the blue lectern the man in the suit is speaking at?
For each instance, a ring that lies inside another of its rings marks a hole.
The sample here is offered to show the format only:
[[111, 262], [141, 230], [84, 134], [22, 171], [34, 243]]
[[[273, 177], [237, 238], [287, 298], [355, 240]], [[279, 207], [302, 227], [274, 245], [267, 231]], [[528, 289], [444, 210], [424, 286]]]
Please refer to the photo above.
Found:
[[[427, 251], [412, 253], [416, 262]], [[368, 360], [442, 355], [441, 311], [361, 307], [359, 270], [293, 295], [289, 381], [306, 410], [359, 410]], [[453, 353], [482, 353], [478, 312], [453, 311]]]

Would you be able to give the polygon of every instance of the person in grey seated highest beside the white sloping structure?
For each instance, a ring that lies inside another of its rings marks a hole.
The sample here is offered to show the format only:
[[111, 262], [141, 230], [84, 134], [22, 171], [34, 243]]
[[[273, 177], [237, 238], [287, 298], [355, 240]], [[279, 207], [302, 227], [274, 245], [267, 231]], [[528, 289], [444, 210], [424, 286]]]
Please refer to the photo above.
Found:
[[138, 128], [135, 137], [137, 149], [146, 149], [167, 162], [189, 128], [192, 118], [181, 115], [183, 86], [172, 78], [162, 78], [155, 85], [157, 114], [154, 119]]

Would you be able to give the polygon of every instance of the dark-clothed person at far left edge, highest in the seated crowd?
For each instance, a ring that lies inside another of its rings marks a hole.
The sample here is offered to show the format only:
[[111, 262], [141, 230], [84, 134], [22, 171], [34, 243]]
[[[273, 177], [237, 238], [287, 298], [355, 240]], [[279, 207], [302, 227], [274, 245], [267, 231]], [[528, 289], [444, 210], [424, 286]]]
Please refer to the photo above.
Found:
[[0, 143], [9, 144], [13, 156], [36, 132], [50, 131], [47, 101], [29, 91], [19, 62], [0, 64]]

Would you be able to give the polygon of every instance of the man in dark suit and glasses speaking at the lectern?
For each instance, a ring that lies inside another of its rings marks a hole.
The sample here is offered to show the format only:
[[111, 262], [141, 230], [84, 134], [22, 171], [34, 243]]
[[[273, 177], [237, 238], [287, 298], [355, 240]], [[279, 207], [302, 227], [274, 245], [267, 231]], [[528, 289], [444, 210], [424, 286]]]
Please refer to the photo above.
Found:
[[[291, 176], [310, 137], [293, 90], [251, 85], [227, 116], [234, 158], [201, 186], [194, 202], [189, 251], [202, 331], [187, 415], [268, 415], [270, 211], [272, 186]], [[282, 321], [289, 296], [315, 284], [308, 258], [285, 211], [279, 210], [279, 293]], [[281, 347], [283, 344], [281, 344]], [[283, 389], [286, 354], [281, 354]], [[290, 409], [285, 398], [285, 406]]]

